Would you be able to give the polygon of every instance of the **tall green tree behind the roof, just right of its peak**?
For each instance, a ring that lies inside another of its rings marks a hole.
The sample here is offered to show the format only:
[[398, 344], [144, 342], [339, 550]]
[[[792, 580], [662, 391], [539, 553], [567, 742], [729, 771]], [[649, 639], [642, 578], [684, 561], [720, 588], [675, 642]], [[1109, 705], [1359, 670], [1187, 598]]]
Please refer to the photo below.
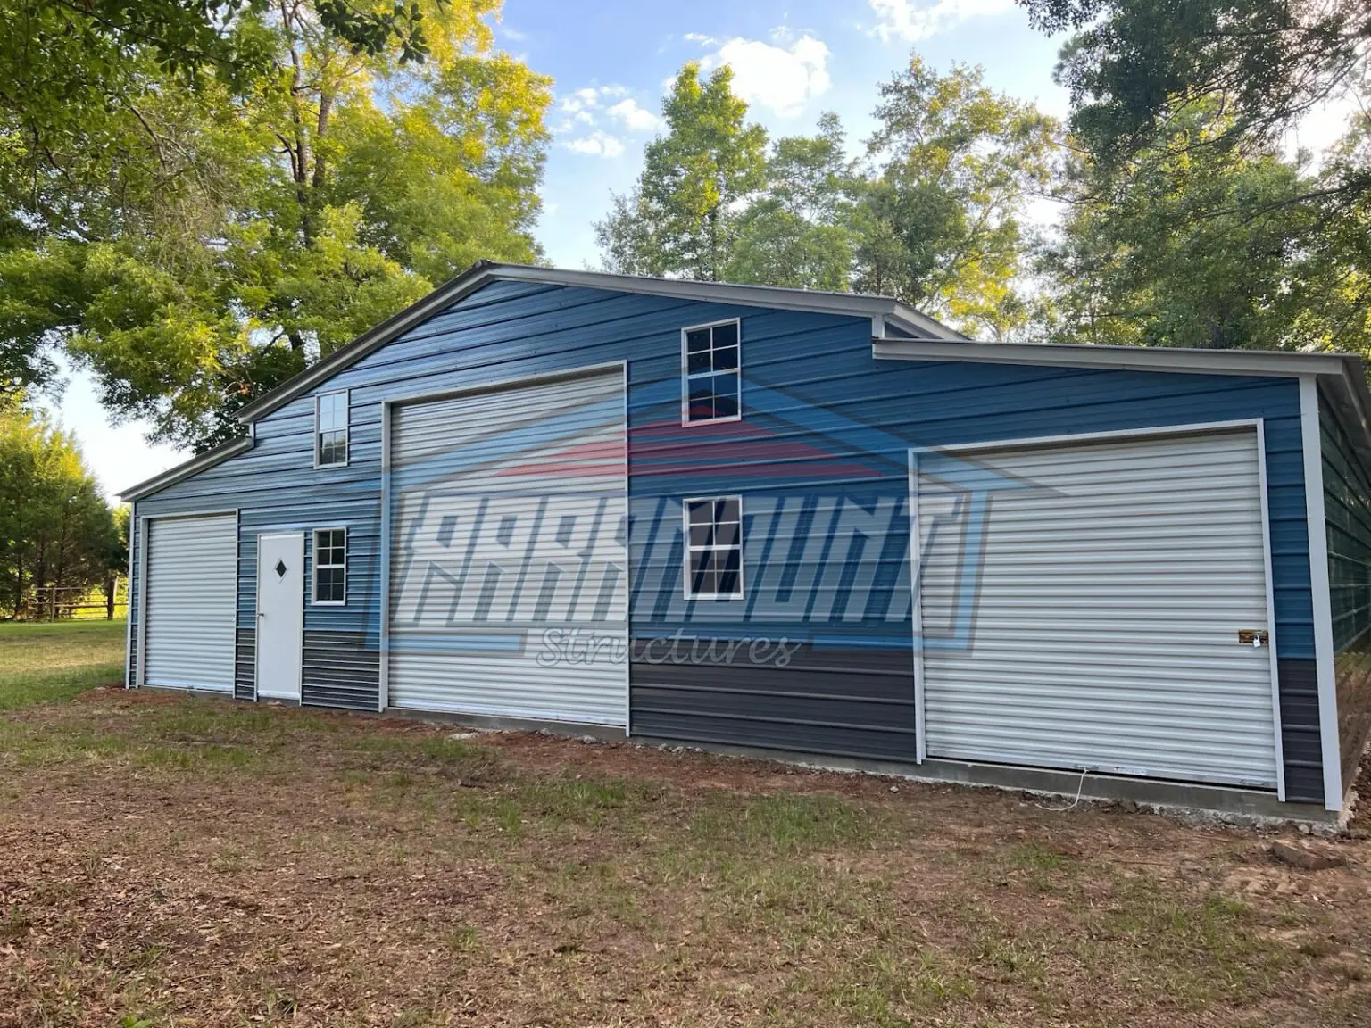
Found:
[[738, 210], [765, 182], [766, 133], [746, 122], [725, 64], [703, 82], [686, 64], [662, 103], [666, 134], [647, 145], [638, 185], [595, 225], [605, 265], [625, 274], [723, 277]]

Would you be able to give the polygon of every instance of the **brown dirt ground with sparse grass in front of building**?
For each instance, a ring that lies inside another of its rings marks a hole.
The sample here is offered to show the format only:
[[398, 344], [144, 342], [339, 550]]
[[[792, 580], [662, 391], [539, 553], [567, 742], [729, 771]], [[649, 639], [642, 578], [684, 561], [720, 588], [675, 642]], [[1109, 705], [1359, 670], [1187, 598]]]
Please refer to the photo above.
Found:
[[0, 718], [0, 1025], [1361, 1025], [1371, 842], [151, 692]]

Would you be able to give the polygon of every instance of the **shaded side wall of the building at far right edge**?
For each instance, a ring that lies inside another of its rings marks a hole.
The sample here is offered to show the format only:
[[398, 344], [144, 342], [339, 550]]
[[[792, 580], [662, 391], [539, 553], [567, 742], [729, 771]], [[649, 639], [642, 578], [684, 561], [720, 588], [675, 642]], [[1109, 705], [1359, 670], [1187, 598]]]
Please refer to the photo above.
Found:
[[1319, 397], [1328, 607], [1342, 787], [1350, 788], [1371, 733], [1371, 470], [1326, 397]]

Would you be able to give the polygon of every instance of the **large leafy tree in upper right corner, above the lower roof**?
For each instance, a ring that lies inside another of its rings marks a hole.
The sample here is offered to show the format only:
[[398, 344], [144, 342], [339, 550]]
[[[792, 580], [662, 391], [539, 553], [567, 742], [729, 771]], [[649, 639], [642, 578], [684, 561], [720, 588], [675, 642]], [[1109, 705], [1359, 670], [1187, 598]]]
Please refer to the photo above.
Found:
[[[1075, 214], [1046, 265], [1057, 330], [1371, 347], [1371, 7], [1020, 3], [1043, 30], [1076, 30], [1057, 74], [1084, 174], [1068, 186]], [[1285, 133], [1346, 95], [1363, 100], [1346, 138], [1315, 170], [1307, 155], [1282, 160]], [[1132, 330], [1131, 311], [1142, 322]]]

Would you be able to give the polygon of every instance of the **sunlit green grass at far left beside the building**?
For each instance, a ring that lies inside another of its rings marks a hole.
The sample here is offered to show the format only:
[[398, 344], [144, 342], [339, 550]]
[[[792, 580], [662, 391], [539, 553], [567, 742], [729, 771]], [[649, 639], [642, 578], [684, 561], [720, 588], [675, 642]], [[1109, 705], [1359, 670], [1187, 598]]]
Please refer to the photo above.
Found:
[[122, 621], [0, 624], [0, 710], [123, 681]]

